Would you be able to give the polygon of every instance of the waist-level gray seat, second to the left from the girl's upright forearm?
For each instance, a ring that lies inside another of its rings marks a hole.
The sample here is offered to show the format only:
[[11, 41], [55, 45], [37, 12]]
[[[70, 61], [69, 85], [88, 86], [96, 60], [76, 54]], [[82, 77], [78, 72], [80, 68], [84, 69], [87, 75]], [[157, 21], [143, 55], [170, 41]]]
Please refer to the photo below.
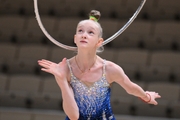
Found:
[[1, 106], [30, 107], [33, 97], [39, 92], [41, 79], [33, 75], [12, 75], [9, 80]]

